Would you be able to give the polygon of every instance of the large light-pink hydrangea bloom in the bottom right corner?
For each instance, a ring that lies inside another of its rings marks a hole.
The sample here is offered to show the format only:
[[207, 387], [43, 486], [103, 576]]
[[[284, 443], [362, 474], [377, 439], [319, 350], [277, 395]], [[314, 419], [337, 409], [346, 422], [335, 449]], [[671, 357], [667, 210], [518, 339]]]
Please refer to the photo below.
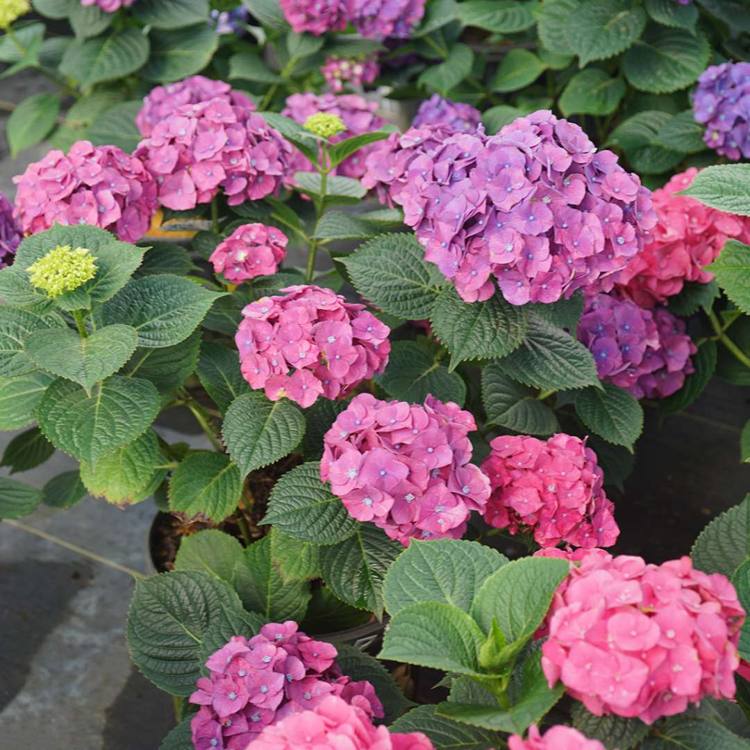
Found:
[[646, 565], [590, 550], [577, 559], [555, 594], [541, 646], [550, 687], [562, 679], [595, 715], [646, 724], [706, 695], [733, 697], [745, 612], [726, 577], [694, 570], [689, 557]]

